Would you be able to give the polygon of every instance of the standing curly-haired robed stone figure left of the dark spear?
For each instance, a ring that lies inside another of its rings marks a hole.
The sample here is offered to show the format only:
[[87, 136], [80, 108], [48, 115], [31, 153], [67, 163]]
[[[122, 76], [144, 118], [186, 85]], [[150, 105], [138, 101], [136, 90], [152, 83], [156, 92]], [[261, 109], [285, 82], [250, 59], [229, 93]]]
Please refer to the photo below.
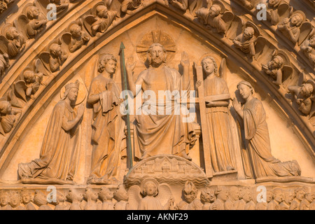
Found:
[[120, 88], [113, 80], [117, 59], [106, 54], [99, 59], [99, 76], [92, 80], [87, 103], [93, 105], [92, 165], [89, 183], [117, 182], [120, 158], [126, 155], [125, 121], [120, 113]]

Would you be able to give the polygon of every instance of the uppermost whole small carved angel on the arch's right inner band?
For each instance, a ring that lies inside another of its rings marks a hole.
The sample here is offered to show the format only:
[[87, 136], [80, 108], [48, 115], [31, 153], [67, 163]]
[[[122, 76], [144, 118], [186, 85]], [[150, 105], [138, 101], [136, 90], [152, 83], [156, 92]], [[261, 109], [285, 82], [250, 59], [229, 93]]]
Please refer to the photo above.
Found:
[[230, 22], [234, 18], [234, 14], [225, 11], [225, 6], [221, 1], [214, 1], [210, 8], [200, 8], [196, 11], [197, 18], [207, 25], [208, 29], [214, 28], [215, 32], [225, 34], [230, 27]]

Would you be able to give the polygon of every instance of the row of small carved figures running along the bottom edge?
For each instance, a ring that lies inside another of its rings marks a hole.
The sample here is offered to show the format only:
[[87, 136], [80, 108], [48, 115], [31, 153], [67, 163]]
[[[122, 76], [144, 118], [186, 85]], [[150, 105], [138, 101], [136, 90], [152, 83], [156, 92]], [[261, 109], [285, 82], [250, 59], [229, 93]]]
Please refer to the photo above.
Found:
[[264, 196], [251, 188], [216, 186], [201, 190], [198, 199], [197, 188], [187, 181], [183, 201], [178, 204], [172, 193], [165, 194], [167, 190], [155, 181], [146, 181], [141, 190], [136, 195], [139, 200], [135, 191], [127, 192], [123, 186], [114, 193], [106, 187], [100, 190], [88, 187], [83, 194], [73, 188], [66, 196], [59, 190], [55, 196], [41, 190], [35, 190], [32, 196], [32, 190], [26, 188], [1, 190], [0, 210], [315, 210], [315, 192], [311, 188], [273, 188]]

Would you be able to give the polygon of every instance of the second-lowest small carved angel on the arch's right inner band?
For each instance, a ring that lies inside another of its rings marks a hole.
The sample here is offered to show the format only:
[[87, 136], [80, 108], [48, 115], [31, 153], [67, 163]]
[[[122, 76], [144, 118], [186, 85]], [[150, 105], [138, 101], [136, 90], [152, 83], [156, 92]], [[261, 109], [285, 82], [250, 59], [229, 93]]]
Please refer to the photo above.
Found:
[[293, 73], [292, 67], [288, 64], [290, 64], [290, 59], [288, 59], [286, 53], [274, 50], [272, 60], [262, 65], [262, 71], [265, 71], [267, 75], [275, 79], [272, 83], [281, 85]]

